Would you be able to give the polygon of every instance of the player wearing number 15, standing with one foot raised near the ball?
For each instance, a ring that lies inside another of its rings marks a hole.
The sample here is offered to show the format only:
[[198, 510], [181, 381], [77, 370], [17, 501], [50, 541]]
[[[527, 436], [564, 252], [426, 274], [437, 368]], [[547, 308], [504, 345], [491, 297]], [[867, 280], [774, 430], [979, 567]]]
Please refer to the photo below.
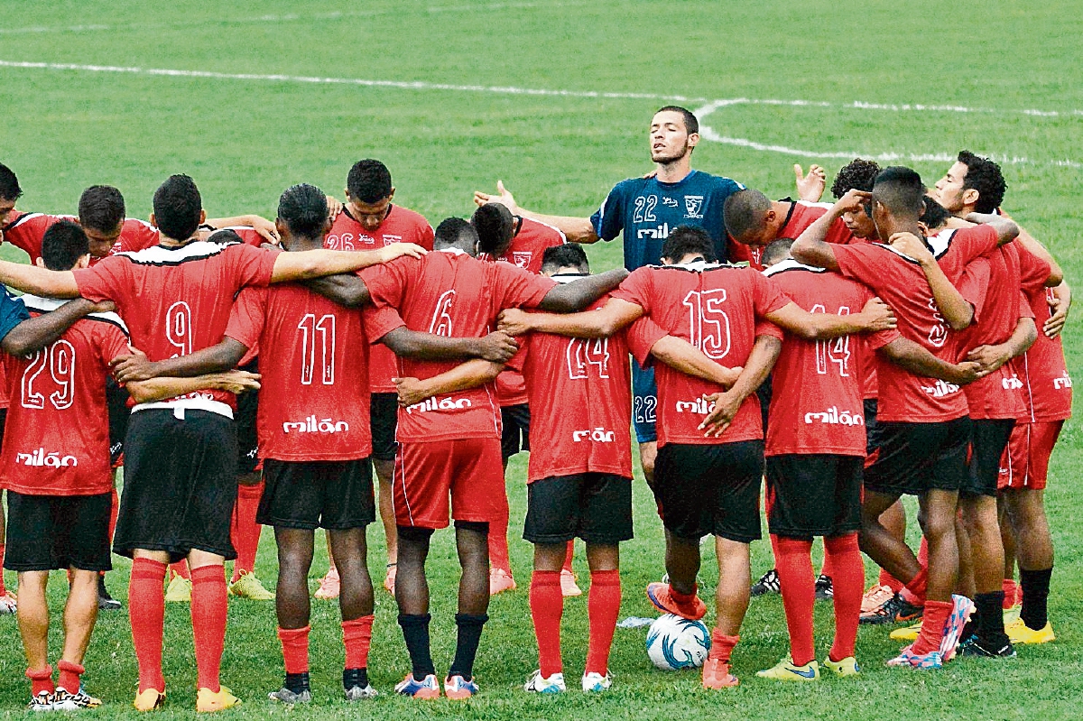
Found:
[[[706, 605], [696, 595], [695, 584], [700, 539], [716, 536], [722, 581], [703, 684], [720, 689], [738, 683], [729, 670], [730, 652], [748, 605], [748, 543], [759, 537], [764, 446], [754, 391], [774, 363], [781, 336], [777, 328], [757, 323], [767, 319], [803, 337], [822, 339], [883, 329], [892, 318], [878, 302], [847, 316], [806, 313], [759, 273], [714, 261], [714, 246], [703, 230], [678, 227], [663, 247], [664, 265], [635, 271], [601, 309], [569, 316], [531, 315], [526, 325], [506, 322], [501, 327], [513, 333], [542, 330], [599, 338], [645, 315], [713, 360], [743, 368], [723, 393], [718, 393], [717, 383], [668, 365], [658, 368], [654, 493], [666, 528], [669, 584], [651, 584], [647, 592], [666, 613], [702, 618]], [[512, 317], [518, 320], [518, 315]]]

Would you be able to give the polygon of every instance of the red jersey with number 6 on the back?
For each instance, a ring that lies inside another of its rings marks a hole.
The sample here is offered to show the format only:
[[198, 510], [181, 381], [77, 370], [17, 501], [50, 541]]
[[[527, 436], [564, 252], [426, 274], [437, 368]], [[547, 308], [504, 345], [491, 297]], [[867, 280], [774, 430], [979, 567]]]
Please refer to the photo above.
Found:
[[[508, 263], [484, 263], [454, 249], [399, 258], [361, 273], [374, 309], [365, 324], [373, 340], [406, 326], [436, 336], [480, 338], [506, 307], [535, 307], [556, 283]], [[397, 311], [397, 313], [395, 312]], [[457, 362], [399, 358], [397, 376], [432, 378]], [[496, 390], [486, 384], [399, 409], [400, 441], [500, 437]]]

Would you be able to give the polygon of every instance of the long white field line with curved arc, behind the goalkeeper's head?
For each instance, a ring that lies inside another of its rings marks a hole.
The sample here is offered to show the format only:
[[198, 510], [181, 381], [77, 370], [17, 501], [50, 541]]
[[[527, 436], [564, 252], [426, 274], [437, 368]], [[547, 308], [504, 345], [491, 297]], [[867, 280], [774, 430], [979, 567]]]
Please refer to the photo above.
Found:
[[[128, 75], [143, 75], [143, 76], [158, 76], [158, 77], [181, 77], [181, 78], [207, 78], [212, 80], [248, 80], [248, 81], [264, 81], [264, 82], [291, 82], [291, 83], [309, 83], [309, 84], [345, 84], [345, 86], [360, 86], [368, 88], [396, 88], [401, 90], [418, 90], [418, 91], [429, 91], [429, 90], [442, 90], [452, 92], [473, 92], [473, 93], [496, 93], [506, 95], [533, 95], [533, 96], [550, 96], [550, 97], [587, 97], [587, 99], [616, 99], [616, 100], [650, 100], [656, 102], [674, 102], [674, 103], [688, 103], [688, 104], [701, 104], [696, 110], [695, 115], [701, 118], [708, 117], [710, 114], [722, 107], [731, 107], [734, 105], [782, 105], [791, 107], [821, 107], [821, 108], [851, 108], [858, 110], [879, 110], [888, 113], [974, 113], [974, 114], [1022, 114], [1032, 116], [1035, 118], [1055, 118], [1065, 116], [1083, 116], [1083, 110], [1036, 110], [1031, 108], [1022, 109], [1010, 109], [1010, 108], [981, 108], [981, 107], [966, 107], [958, 105], [919, 105], [919, 104], [882, 104], [882, 103], [865, 103], [862, 101], [854, 101], [852, 103], [830, 103], [825, 101], [805, 101], [805, 100], [774, 100], [774, 99], [749, 99], [749, 97], [731, 97], [726, 100], [714, 100], [708, 101], [705, 97], [688, 97], [684, 95], [664, 95], [658, 93], [631, 93], [631, 92], [603, 92], [593, 90], [551, 90], [542, 88], [518, 88], [513, 86], [482, 86], [482, 84], [454, 84], [454, 83], [442, 83], [442, 82], [427, 82], [423, 80], [371, 80], [365, 78], [335, 78], [335, 77], [318, 77], [318, 76], [299, 76], [299, 75], [263, 75], [263, 74], [252, 74], [252, 73], [218, 73], [213, 70], [182, 70], [173, 68], [149, 68], [149, 67], [129, 67], [129, 66], [115, 66], [115, 65], [80, 65], [74, 63], [37, 63], [37, 62], [25, 62], [25, 61], [4, 61], [0, 60], [0, 67], [11, 67], [11, 68], [24, 68], [24, 69], [43, 69], [43, 70], [68, 70], [68, 71], [79, 71], [79, 73], [115, 73], [115, 74], [128, 74]], [[701, 122], [700, 134], [708, 141], [716, 143], [725, 143], [727, 145], [735, 145], [740, 147], [747, 147], [755, 150], [768, 152], [768, 153], [781, 153], [785, 155], [795, 155], [798, 157], [807, 158], [854, 158], [854, 157], [867, 157], [875, 160], [893, 161], [893, 160], [912, 160], [912, 161], [940, 161], [945, 162], [953, 160], [955, 156], [948, 153], [932, 153], [932, 154], [899, 154], [899, 153], [882, 153], [882, 154], [870, 154], [870, 153], [859, 153], [850, 150], [807, 150], [799, 148], [786, 147], [784, 145], [771, 145], [766, 143], [758, 143], [743, 137], [730, 137], [722, 135], [715, 131], [709, 126]], [[1071, 160], [1071, 159], [1059, 159], [1059, 160], [1046, 160], [1036, 161], [1031, 160], [1026, 157], [1007, 157], [993, 155], [999, 162], [1004, 163], [1040, 163], [1040, 165], [1052, 165], [1067, 168], [1083, 168], [1083, 163]]]

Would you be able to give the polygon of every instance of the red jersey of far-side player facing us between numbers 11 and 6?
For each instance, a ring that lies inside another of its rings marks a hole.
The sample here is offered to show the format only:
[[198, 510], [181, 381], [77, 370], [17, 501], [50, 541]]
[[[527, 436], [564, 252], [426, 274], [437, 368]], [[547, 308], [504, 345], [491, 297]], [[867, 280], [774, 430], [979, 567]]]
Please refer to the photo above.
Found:
[[[420, 213], [391, 206], [380, 226], [368, 232], [343, 208], [324, 238], [324, 247], [332, 250], [376, 250], [392, 242], [413, 242], [432, 250], [432, 226]], [[391, 379], [395, 377], [395, 354], [391, 349], [379, 343], [373, 345], [368, 358], [369, 391], [394, 393], [395, 384]]]

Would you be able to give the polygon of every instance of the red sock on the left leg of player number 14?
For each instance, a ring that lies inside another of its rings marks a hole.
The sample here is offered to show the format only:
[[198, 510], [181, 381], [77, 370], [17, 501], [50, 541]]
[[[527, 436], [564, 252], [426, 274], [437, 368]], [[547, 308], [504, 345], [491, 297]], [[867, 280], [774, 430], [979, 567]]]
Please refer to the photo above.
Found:
[[812, 606], [815, 604], [812, 541], [771, 534], [771, 548], [782, 589], [782, 607], [786, 612], [790, 655], [795, 666], [805, 666], [815, 658], [812, 643]]

